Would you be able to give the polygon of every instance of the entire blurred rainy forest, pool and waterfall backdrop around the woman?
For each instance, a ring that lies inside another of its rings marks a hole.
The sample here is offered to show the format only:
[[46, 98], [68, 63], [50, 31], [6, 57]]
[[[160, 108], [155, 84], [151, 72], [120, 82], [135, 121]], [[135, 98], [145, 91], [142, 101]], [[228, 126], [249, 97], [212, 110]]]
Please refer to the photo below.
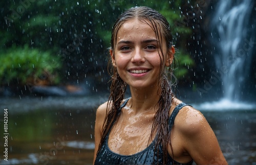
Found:
[[254, 0], [0, 4], [3, 137], [8, 111], [8, 161], [2, 154], [0, 164], [92, 164], [95, 112], [109, 98], [112, 26], [134, 6], [170, 23], [177, 98], [205, 115], [229, 164], [256, 164]]

